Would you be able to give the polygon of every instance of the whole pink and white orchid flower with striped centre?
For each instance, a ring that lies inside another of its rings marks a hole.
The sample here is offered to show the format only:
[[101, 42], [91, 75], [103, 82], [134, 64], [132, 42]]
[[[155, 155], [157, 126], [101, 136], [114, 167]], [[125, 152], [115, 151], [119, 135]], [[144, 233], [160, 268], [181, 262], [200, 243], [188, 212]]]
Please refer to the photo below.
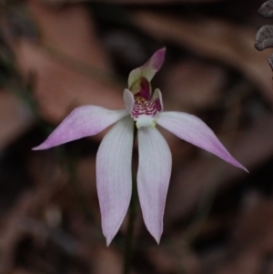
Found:
[[139, 153], [136, 176], [138, 197], [146, 227], [157, 243], [163, 231], [172, 167], [170, 149], [157, 125], [247, 171], [199, 118], [183, 112], [163, 111], [161, 92], [158, 88], [152, 92], [150, 81], [162, 66], [165, 53], [165, 48], [159, 49], [144, 66], [131, 71], [128, 88], [124, 91], [126, 109], [76, 107], [44, 143], [34, 148], [47, 149], [93, 136], [116, 123], [106, 133], [96, 155], [96, 188], [107, 245], [120, 228], [131, 199], [135, 122]]

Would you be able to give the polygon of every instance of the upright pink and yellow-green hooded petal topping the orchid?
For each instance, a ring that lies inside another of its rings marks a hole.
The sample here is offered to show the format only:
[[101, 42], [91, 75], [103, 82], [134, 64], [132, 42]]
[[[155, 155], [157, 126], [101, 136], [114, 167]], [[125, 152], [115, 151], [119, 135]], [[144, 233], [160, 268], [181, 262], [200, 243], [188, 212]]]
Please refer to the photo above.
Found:
[[134, 82], [141, 76], [146, 77], [147, 80], [150, 82], [152, 78], [155, 76], [157, 71], [161, 68], [166, 54], [166, 48], [163, 47], [151, 56], [147, 63], [143, 66], [137, 67], [132, 70], [128, 77], [128, 86], [131, 87]]

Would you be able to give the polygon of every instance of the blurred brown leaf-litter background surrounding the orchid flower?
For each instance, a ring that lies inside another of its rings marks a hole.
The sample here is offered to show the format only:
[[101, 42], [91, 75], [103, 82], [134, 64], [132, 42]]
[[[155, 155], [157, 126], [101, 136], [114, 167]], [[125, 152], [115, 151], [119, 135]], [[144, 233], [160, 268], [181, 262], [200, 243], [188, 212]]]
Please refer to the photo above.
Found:
[[[123, 108], [129, 72], [160, 47], [166, 110], [202, 118], [249, 175], [160, 130], [173, 154], [161, 243], [138, 209], [131, 273], [273, 273], [271, 50], [263, 0], [0, 1], [0, 273], [119, 274], [96, 195], [105, 132], [32, 151], [75, 107]], [[134, 153], [137, 167], [137, 150]]]

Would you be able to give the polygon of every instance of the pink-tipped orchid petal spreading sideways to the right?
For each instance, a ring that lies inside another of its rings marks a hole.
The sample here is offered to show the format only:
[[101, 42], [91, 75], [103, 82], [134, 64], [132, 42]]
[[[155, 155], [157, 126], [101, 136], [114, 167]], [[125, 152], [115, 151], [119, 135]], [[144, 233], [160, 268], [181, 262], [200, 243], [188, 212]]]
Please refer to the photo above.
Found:
[[165, 127], [177, 137], [201, 147], [227, 161], [227, 163], [248, 172], [246, 167], [243, 167], [229, 154], [214, 132], [198, 117], [182, 112], [162, 112], [157, 124]]

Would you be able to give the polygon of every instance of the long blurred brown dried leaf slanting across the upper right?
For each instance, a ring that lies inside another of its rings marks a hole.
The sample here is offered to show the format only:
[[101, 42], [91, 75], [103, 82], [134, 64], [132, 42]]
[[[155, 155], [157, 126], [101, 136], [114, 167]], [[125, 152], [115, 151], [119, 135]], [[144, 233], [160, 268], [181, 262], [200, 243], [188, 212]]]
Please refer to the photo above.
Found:
[[253, 46], [255, 29], [215, 19], [189, 21], [170, 15], [138, 12], [135, 24], [149, 35], [173, 41], [200, 56], [224, 62], [248, 77], [273, 104], [271, 71], [265, 59]]

